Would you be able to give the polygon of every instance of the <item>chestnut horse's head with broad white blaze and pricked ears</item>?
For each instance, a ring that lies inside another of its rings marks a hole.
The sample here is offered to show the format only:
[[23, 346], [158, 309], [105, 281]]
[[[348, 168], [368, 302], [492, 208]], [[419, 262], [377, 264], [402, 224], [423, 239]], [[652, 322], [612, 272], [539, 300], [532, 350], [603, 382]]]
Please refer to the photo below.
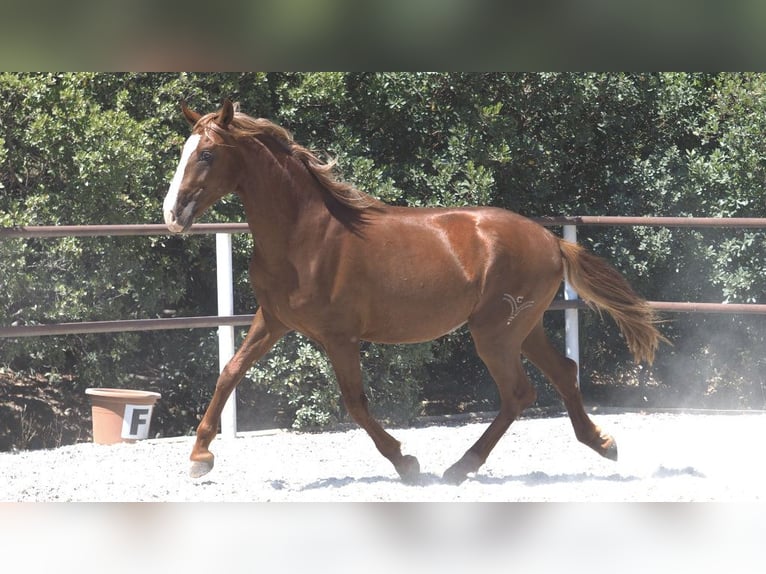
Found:
[[181, 110], [192, 126], [175, 175], [163, 203], [165, 224], [173, 233], [189, 229], [195, 218], [236, 188], [238, 155], [229, 125], [234, 105], [224, 100], [221, 109], [202, 116], [185, 103]]

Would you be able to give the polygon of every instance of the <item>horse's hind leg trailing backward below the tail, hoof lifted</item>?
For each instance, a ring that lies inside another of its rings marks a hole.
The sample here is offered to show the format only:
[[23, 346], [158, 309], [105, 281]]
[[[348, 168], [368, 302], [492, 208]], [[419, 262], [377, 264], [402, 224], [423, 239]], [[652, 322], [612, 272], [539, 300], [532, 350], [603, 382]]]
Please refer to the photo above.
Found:
[[585, 412], [577, 388], [577, 363], [562, 355], [548, 340], [540, 322], [521, 347], [524, 356], [534, 363], [553, 384], [564, 401], [575, 436], [601, 456], [617, 460], [617, 443], [591, 421]]

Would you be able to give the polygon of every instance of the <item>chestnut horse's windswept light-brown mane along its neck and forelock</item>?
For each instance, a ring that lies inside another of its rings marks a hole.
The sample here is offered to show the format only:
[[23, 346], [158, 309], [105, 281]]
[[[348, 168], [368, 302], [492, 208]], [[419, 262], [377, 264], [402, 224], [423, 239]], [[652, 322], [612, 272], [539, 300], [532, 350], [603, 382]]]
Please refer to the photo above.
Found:
[[[197, 122], [197, 126], [223, 134], [222, 128], [212, 121], [215, 117], [215, 113], [203, 116]], [[350, 183], [338, 179], [335, 172], [337, 165], [335, 159], [329, 162], [322, 161], [314, 152], [298, 144], [289, 131], [274, 122], [264, 118], [253, 118], [242, 112], [235, 112], [226, 133], [235, 139], [268, 138], [273, 140], [287, 155], [302, 163], [331, 197], [351, 211], [358, 212], [382, 205], [378, 199], [358, 190]]]

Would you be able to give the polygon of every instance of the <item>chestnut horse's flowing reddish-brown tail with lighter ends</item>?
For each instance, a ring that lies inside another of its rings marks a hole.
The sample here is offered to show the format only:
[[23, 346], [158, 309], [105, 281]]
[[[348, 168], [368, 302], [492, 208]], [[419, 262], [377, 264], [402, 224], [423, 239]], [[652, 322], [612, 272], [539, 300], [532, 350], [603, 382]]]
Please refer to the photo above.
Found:
[[652, 363], [660, 341], [657, 318], [649, 303], [636, 295], [620, 273], [585, 248], [560, 240], [564, 270], [569, 284], [591, 307], [605, 310], [620, 328], [636, 363]]

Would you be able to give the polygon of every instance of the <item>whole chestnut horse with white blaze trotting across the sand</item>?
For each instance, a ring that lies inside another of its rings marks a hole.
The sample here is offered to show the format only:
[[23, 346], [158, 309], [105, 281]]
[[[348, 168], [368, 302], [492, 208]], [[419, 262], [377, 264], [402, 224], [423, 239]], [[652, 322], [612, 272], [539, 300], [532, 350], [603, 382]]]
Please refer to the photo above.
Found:
[[651, 362], [662, 336], [651, 308], [617, 271], [506, 210], [386, 205], [337, 180], [332, 163], [283, 128], [235, 111], [228, 100], [204, 116], [185, 104], [182, 110], [193, 129], [165, 198], [165, 222], [182, 233], [222, 196], [239, 195], [259, 303], [197, 429], [192, 476], [213, 468], [208, 447], [234, 387], [282, 336], [298, 331], [327, 353], [349, 414], [401, 479], [416, 481], [418, 460], [402, 454], [368, 411], [359, 346], [428, 341], [464, 324], [497, 384], [500, 409], [445, 481], [476, 472], [534, 402], [522, 354], [561, 395], [577, 439], [617, 459], [614, 439], [585, 412], [576, 364], [551, 345], [542, 324], [566, 274], [584, 300], [612, 315], [635, 360]]

